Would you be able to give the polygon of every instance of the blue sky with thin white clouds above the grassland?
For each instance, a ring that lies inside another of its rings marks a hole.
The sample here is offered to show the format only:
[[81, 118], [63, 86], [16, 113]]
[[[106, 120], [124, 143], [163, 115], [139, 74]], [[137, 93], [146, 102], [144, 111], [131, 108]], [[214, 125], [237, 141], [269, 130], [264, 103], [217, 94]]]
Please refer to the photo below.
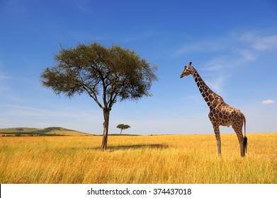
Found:
[[[247, 117], [247, 132], [277, 132], [277, 3], [261, 1], [0, 0], [0, 128], [66, 127], [102, 134], [87, 95], [57, 96], [40, 74], [63, 47], [120, 45], [159, 66], [152, 97], [116, 103], [110, 133], [213, 134], [193, 66]], [[233, 133], [221, 127], [221, 133]], [[124, 133], [124, 132], [123, 132]]]

